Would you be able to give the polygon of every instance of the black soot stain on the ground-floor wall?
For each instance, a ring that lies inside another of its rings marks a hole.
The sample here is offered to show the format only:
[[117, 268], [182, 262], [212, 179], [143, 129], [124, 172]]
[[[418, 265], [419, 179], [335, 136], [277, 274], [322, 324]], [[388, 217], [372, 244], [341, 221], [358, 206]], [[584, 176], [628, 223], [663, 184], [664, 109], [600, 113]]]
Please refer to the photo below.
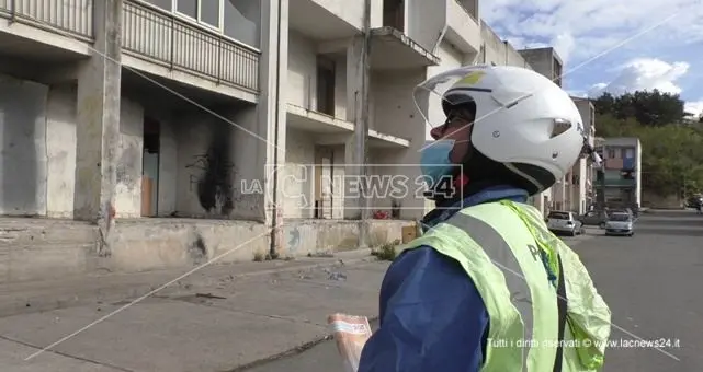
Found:
[[186, 167], [199, 168], [201, 174], [191, 177], [196, 185], [197, 199], [208, 213], [229, 216], [235, 209], [235, 165], [229, 161], [233, 153], [233, 128], [224, 123], [213, 125], [213, 137], [204, 154]]

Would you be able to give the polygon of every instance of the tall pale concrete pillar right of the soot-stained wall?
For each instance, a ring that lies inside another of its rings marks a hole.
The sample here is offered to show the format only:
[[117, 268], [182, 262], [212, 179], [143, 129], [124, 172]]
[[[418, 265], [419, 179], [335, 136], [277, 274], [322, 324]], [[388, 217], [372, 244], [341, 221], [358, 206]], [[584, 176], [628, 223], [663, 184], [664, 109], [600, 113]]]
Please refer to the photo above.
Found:
[[265, 159], [264, 213], [271, 229], [271, 254], [283, 248], [283, 179], [285, 172], [285, 133], [287, 100], [285, 95], [288, 72], [288, 0], [261, 2], [261, 86], [259, 109], [259, 159]]

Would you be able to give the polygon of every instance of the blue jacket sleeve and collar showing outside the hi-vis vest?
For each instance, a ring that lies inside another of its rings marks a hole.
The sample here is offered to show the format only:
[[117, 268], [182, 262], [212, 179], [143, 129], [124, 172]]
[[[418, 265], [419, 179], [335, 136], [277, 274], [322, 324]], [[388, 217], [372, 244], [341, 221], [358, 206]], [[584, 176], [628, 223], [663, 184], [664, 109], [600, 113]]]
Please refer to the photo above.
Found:
[[[492, 187], [464, 199], [524, 202], [528, 194]], [[458, 209], [446, 210], [430, 226]], [[401, 254], [381, 284], [379, 328], [364, 346], [359, 372], [476, 372], [486, 350], [488, 312], [466, 271], [429, 246]]]

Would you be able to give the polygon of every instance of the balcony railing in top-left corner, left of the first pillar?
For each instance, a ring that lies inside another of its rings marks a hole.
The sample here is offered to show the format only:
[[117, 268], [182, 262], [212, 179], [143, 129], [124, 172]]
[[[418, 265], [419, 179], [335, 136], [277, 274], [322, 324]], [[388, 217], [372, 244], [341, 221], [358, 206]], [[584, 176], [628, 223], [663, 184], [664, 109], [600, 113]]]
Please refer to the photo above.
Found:
[[0, 16], [84, 40], [93, 38], [93, 0], [0, 0]]

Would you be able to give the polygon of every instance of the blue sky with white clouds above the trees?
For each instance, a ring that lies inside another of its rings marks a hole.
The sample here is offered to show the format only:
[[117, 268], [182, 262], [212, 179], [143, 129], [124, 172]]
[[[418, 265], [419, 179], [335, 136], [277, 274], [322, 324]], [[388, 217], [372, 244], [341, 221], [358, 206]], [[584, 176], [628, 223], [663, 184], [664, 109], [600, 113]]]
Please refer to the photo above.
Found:
[[479, 0], [479, 7], [515, 48], [553, 46], [572, 95], [658, 89], [703, 113], [703, 0]]

